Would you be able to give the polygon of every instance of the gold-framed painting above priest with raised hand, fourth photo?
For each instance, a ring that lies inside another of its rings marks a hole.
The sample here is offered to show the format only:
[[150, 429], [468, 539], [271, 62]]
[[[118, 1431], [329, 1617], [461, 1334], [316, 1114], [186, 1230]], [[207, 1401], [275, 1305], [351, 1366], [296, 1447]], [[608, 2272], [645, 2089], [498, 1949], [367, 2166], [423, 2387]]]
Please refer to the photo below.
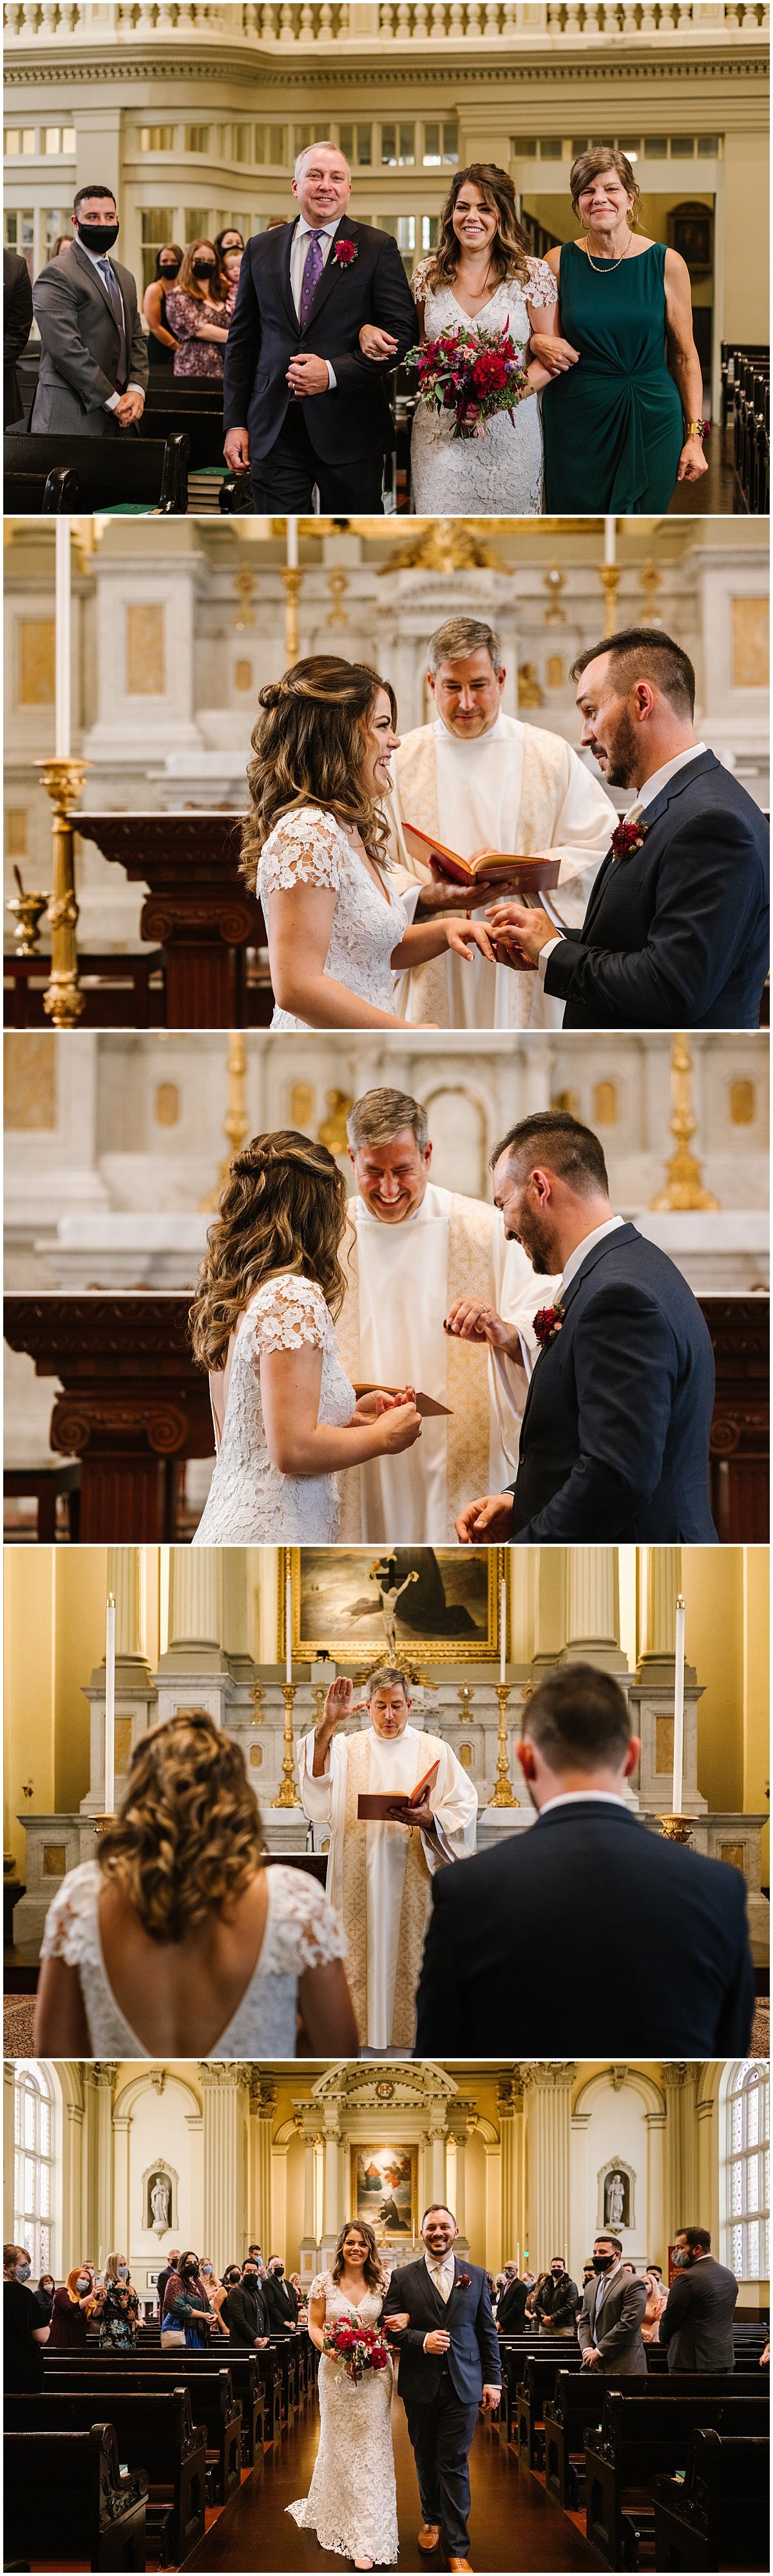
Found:
[[278, 1656], [291, 1577], [294, 1664], [495, 1664], [502, 1571], [502, 1548], [286, 1548]]

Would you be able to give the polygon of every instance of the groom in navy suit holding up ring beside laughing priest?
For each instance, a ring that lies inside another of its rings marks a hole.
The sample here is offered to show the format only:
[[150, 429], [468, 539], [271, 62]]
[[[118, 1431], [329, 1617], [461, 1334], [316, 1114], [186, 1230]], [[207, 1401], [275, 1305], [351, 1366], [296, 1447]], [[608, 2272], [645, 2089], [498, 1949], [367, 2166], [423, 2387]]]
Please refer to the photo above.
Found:
[[[562, 1273], [562, 1291], [533, 1316], [541, 1350], [515, 1486], [469, 1502], [456, 1535], [518, 1548], [572, 1538], [716, 1540], [714, 1350], [683, 1273], [613, 1213], [600, 1141], [580, 1118], [536, 1110], [492, 1162], [505, 1236], [544, 1278]], [[459, 1306], [446, 1329], [495, 1340], [500, 1319], [482, 1301]]]

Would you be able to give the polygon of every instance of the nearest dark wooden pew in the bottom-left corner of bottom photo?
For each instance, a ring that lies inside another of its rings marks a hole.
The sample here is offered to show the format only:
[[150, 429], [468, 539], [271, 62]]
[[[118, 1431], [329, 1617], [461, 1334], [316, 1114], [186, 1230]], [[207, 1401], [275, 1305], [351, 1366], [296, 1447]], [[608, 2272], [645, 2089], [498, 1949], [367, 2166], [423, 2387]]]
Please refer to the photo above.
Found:
[[144, 2568], [147, 2478], [121, 2476], [113, 2424], [90, 2432], [8, 2432], [5, 2566]]

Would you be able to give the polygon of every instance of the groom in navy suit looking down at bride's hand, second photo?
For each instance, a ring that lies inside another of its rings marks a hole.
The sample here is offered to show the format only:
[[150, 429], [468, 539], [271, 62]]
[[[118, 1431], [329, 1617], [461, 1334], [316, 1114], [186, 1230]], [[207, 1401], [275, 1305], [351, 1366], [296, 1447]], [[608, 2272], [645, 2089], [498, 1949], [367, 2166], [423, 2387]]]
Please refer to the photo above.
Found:
[[768, 974], [768, 824], [696, 739], [680, 644], [629, 626], [572, 665], [582, 744], [606, 786], [636, 788], [582, 930], [495, 904], [518, 966], [564, 999], [564, 1028], [758, 1028]]

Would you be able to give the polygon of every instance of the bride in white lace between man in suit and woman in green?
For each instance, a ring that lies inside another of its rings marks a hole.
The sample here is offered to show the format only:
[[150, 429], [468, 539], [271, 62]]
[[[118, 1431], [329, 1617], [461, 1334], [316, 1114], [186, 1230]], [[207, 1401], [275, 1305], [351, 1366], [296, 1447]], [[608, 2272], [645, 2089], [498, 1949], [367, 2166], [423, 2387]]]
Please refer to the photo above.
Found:
[[[469, 162], [456, 173], [441, 214], [438, 250], [420, 260], [410, 286], [423, 340], [469, 327], [508, 330], [531, 381], [515, 415], [495, 412], [482, 438], [453, 438], [453, 412], [417, 402], [410, 440], [415, 510], [428, 518], [536, 518], [544, 507], [536, 394], [551, 379], [539, 361], [528, 366], [528, 340], [541, 309], [557, 304], [557, 281], [546, 260], [531, 258], [508, 170]], [[361, 348], [368, 358], [386, 355], [381, 343], [384, 332], [363, 325]]]

